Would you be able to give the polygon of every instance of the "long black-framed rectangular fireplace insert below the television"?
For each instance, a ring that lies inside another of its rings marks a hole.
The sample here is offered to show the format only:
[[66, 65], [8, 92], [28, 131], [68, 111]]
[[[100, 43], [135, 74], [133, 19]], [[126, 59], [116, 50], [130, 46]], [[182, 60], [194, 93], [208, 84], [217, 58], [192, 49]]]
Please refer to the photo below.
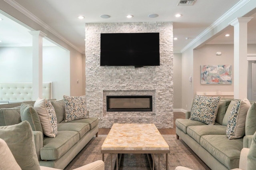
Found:
[[107, 111], [152, 111], [152, 96], [107, 96]]

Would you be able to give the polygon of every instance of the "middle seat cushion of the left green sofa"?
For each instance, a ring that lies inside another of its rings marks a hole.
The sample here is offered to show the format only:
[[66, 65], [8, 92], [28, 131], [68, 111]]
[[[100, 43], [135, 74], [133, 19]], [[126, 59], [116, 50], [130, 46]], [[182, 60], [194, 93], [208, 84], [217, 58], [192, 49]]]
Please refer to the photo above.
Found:
[[88, 123], [59, 123], [58, 131], [63, 130], [78, 132], [80, 138], [82, 138], [90, 130], [90, 125]]

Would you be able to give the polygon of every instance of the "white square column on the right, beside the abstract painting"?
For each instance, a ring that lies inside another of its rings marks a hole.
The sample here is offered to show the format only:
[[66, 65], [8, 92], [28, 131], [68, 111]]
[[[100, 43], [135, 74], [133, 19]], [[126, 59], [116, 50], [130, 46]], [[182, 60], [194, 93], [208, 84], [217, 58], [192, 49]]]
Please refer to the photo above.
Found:
[[247, 97], [247, 23], [252, 17], [239, 17], [234, 26], [234, 99]]

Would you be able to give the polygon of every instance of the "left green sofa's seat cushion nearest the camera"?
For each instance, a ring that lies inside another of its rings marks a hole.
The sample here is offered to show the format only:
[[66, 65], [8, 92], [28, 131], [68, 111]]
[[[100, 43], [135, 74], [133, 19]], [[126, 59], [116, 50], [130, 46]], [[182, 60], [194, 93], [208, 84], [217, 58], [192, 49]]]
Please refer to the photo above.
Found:
[[75, 131], [59, 131], [55, 138], [44, 137], [43, 147], [40, 149], [41, 159], [56, 160], [78, 141], [79, 134]]

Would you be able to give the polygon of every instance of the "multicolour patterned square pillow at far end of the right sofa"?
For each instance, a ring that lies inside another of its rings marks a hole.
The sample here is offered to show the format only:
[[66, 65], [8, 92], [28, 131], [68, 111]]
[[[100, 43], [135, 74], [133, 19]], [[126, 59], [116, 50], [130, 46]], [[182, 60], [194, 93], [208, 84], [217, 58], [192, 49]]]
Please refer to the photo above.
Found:
[[200, 121], [207, 125], [214, 125], [219, 102], [220, 96], [208, 97], [196, 95], [190, 114], [190, 120]]

